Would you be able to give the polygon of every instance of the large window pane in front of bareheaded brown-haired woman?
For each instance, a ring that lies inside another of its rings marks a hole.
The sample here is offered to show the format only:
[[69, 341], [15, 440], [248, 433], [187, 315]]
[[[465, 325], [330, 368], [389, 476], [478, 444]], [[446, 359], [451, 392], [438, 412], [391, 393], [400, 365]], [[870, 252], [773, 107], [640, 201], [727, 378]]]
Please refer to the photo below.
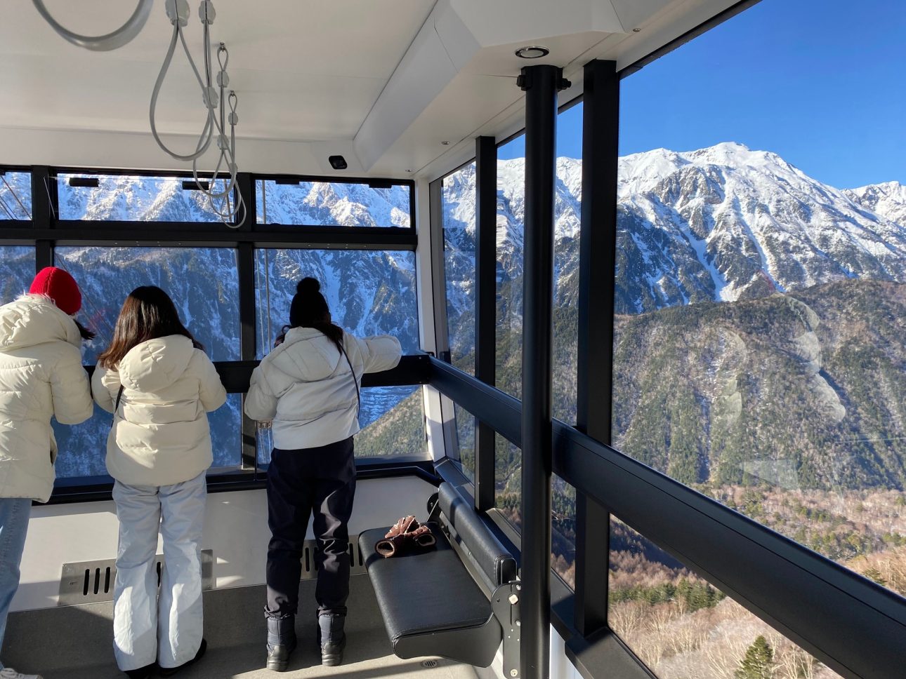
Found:
[[57, 247], [54, 263], [82, 290], [82, 317], [97, 337], [85, 344], [94, 364], [113, 338], [123, 301], [140, 285], [157, 285], [211, 360], [238, 360], [239, 279], [231, 248]]

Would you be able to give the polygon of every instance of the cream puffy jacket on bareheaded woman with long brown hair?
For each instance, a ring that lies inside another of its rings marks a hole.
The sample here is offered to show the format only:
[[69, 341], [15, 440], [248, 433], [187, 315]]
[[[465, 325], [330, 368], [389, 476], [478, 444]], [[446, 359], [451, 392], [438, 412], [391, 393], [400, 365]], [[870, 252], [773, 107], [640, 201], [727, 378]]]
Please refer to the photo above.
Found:
[[214, 364], [182, 335], [149, 339], [120, 360], [99, 364], [94, 400], [113, 412], [107, 437], [107, 471], [127, 485], [161, 486], [188, 481], [213, 461], [207, 412], [226, 402]]

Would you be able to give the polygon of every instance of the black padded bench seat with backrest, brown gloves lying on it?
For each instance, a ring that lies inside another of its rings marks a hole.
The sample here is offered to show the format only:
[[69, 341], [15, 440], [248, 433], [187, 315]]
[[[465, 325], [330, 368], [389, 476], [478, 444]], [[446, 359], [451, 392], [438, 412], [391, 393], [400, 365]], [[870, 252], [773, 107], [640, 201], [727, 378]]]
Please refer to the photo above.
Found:
[[505, 674], [518, 676], [516, 559], [449, 483], [436, 502], [428, 524], [435, 549], [384, 559], [374, 545], [389, 528], [359, 535], [393, 652], [487, 667], [503, 640]]

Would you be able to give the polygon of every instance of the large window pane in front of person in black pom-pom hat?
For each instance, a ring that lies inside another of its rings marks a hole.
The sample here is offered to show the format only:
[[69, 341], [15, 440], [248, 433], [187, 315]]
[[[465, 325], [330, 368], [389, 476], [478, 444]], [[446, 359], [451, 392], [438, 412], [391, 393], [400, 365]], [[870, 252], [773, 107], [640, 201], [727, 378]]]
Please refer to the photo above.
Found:
[[274, 347], [289, 323], [296, 283], [321, 282], [333, 322], [356, 337], [393, 335], [402, 352], [419, 351], [415, 253], [383, 250], [257, 250], [257, 357]]

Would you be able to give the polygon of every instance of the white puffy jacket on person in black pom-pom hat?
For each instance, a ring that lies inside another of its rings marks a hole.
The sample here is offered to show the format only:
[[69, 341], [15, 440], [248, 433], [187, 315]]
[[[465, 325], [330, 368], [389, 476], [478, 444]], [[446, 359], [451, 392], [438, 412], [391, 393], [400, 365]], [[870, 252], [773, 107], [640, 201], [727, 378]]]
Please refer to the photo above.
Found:
[[349, 363], [321, 330], [293, 328], [255, 368], [246, 415], [274, 421], [275, 447], [314, 448], [359, 431], [356, 385], [363, 373], [400, 362], [400, 340], [390, 335], [356, 339], [344, 332], [343, 348]]

